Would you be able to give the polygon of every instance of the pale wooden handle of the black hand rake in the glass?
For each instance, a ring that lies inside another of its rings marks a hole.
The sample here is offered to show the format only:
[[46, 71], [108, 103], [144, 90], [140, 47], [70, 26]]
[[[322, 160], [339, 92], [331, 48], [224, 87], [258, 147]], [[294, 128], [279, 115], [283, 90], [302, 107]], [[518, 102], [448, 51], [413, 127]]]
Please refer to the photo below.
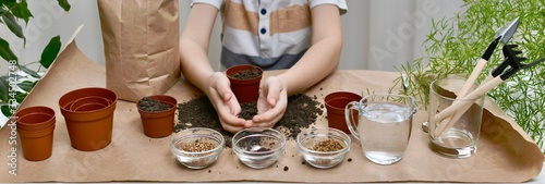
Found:
[[447, 114], [452, 114], [455, 111], [460, 111], [458, 115], [452, 116], [450, 121], [441, 121], [439, 118], [439, 114], [435, 115], [436, 122], [439, 122], [439, 125], [436, 130], [431, 130], [434, 131], [433, 136], [438, 137], [440, 136], [446, 130], [450, 128], [460, 118], [462, 112], [465, 112], [471, 105], [473, 105], [473, 101], [471, 99], [476, 99], [483, 95], [485, 95], [487, 91], [493, 89], [494, 87], [498, 86], [499, 84], [504, 83], [504, 79], [501, 77], [497, 76], [494, 79], [492, 79], [488, 83], [485, 83], [475, 90], [473, 90], [471, 94], [465, 96], [463, 99], [468, 99], [468, 101], [455, 101], [450, 107], [446, 108], [441, 112], [446, 112]]

